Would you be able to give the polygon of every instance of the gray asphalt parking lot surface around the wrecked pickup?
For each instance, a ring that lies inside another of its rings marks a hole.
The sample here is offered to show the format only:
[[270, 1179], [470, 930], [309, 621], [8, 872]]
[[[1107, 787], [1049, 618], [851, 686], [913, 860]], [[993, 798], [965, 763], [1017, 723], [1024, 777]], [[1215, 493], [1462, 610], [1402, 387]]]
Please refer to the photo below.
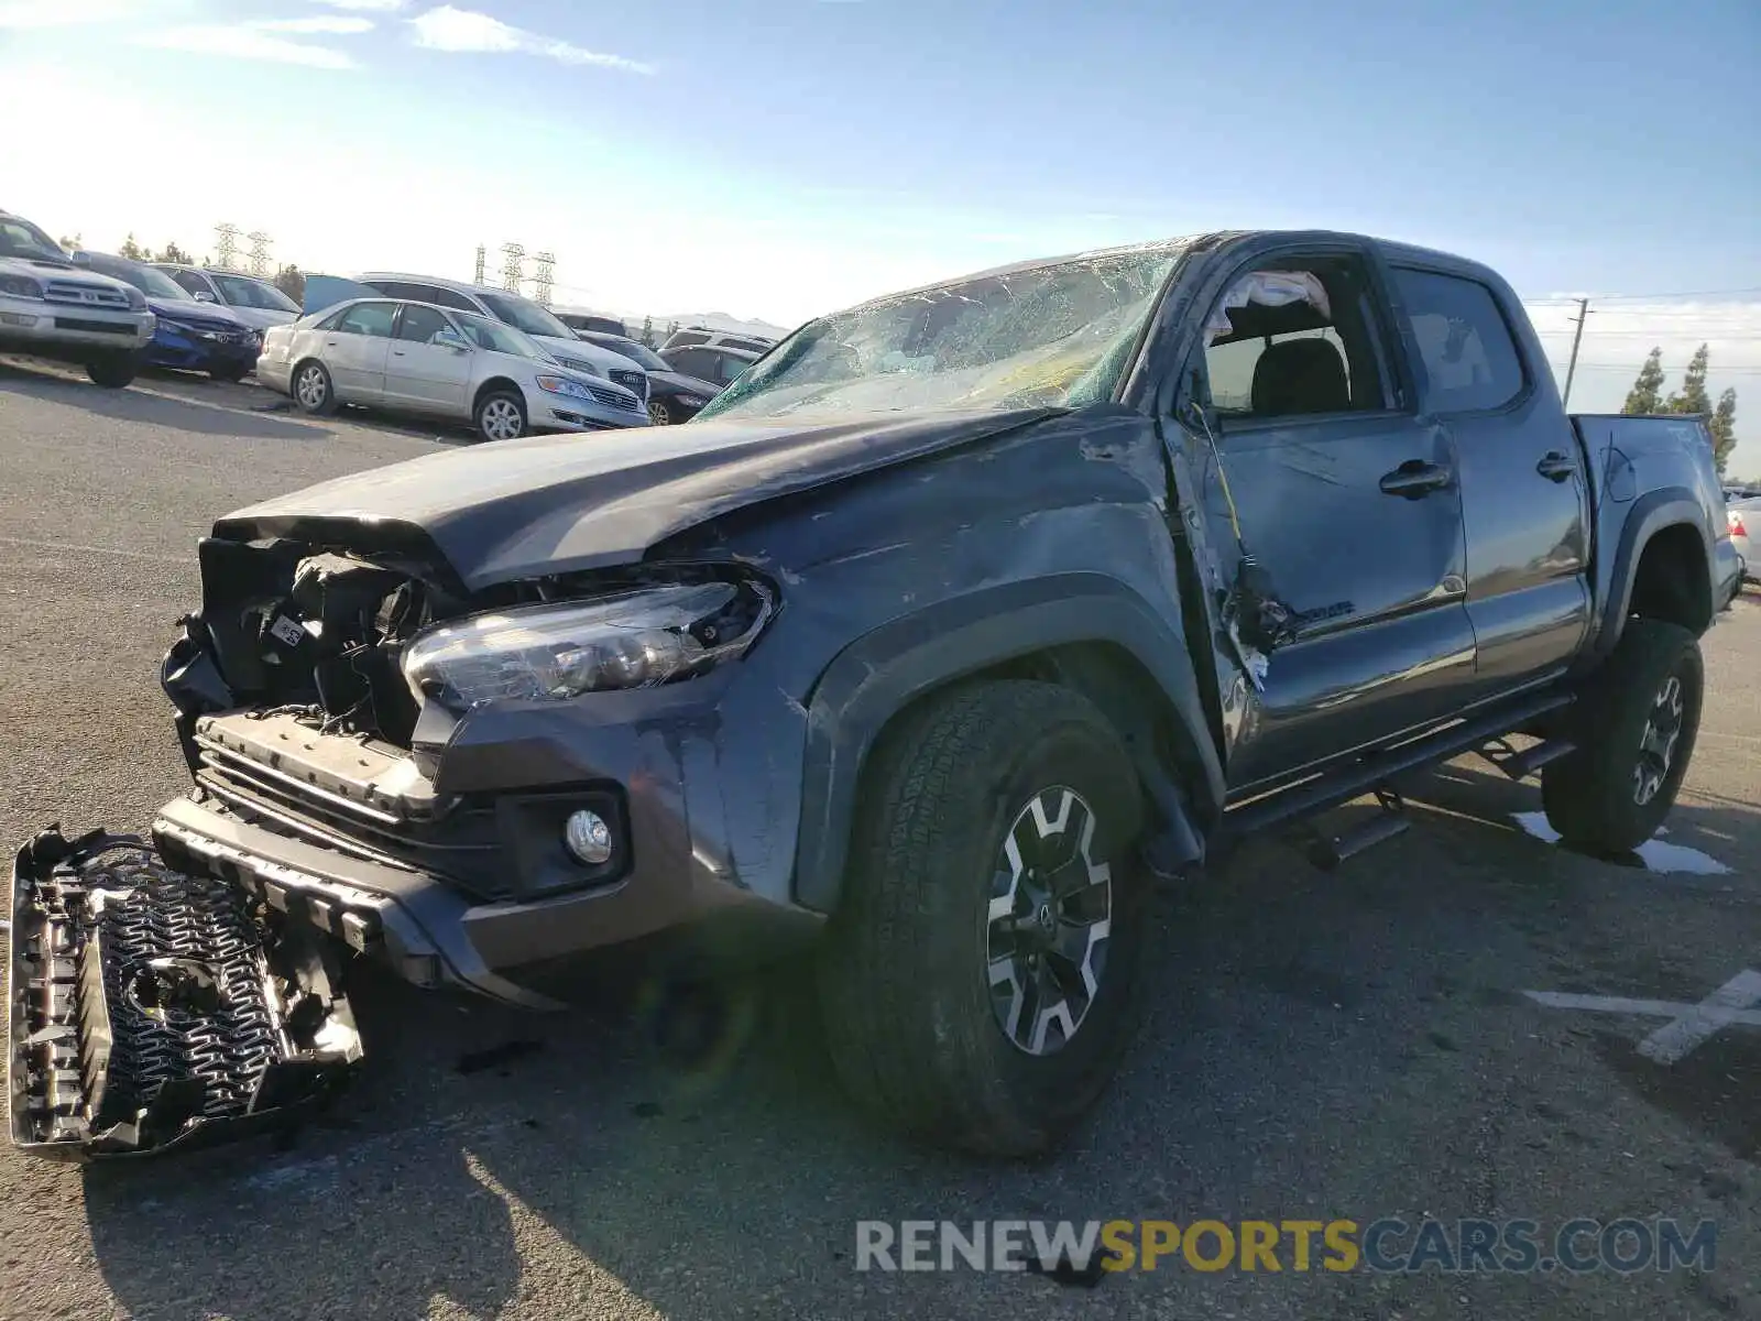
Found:
[[[217, 514], [461, 442], [271, 405], [252, 386], [111, 393], [0, 361], [7, 849], [51, 821], [143, 830], [183, 789], [157, 662]], [[368, 970], [368, 1067], [291, 1145], [88, 1171], [0, 1154], [0, 1314], [1761, 1316], [1761, 1027], [1742, 1018], [1757, 1006], [1687, 1011], [1761, 970], [1761, 599], [1705, 652], [1699, 747], [1650, 849], [1668, 870], [1557, 849], [1525, 828], [1536, 786], [1474, 757], [1407, 782], [1414, 830], [1337, 872], [1256, 842], [1162, 905], [1138, 1046], [1043, 1164], [866, 1127], [801, 969], [718, 986], [726, 1013], [706, 1015], [620, 969], [544, 1018]], [[858, 1221], [1425, 1215], [1712, 1219], [1717, 1261], [1164, 1261], [1092, 1288], [856, 1270]]]

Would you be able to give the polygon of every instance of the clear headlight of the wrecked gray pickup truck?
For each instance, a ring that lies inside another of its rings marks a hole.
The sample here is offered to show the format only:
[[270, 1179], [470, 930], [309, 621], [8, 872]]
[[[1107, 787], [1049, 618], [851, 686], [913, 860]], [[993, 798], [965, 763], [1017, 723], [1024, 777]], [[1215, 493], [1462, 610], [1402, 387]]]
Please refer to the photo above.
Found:
[[417, 701], [453, 708], [646, 689], [740, 655], [770, 613], [771, 594], [757, 583], [645, 587], [523, 606], [417, 634], [403, 652], [403, 678]]

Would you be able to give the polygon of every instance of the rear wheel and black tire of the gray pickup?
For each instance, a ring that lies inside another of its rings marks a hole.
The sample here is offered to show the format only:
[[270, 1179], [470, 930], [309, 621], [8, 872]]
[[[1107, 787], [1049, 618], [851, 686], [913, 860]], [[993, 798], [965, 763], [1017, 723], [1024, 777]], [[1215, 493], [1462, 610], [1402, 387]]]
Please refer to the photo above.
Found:
[[1703, 692], [1699, 639], [1691, 631], [1627, 620], [1567, 720], [1578, 750], [1541, 773], [1548, 824], [1566, 844], [1629, 852], [1657, 833], [1694, 756]]

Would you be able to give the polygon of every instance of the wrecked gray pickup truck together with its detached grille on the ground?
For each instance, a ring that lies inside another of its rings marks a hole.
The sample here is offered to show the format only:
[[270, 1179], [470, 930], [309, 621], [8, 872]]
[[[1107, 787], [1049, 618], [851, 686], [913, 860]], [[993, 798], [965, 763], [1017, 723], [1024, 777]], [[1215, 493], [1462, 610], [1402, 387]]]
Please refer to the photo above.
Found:
[[1152, 886], [1231, 840], [1377, 793], [1337, 861], [1469, 750], [1571, 844], [1648, 838], [1722, 504], [1699, 421], [1569, 417], [1483, 266], [1231, 232], [824, 317], [685, 426], [243, 509], [164, 664], [194, 789], [18, 854], [12, 1136], [296, 1113], [361, 1057], [350, 955], [551, 1007], [583, 951], [775, 932], [856, 1097], [1044, 1150]]

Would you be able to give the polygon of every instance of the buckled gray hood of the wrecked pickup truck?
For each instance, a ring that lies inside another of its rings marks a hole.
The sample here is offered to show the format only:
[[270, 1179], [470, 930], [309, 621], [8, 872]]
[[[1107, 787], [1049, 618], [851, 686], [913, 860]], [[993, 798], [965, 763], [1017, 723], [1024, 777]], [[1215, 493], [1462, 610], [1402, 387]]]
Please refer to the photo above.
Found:
[[706, 421], [470, 446], [319, 483], [215, 523], [363, 555], [438, 557], [468, 592], [634, 564], [720, 514], [1027, 426], [1050, 409]]

